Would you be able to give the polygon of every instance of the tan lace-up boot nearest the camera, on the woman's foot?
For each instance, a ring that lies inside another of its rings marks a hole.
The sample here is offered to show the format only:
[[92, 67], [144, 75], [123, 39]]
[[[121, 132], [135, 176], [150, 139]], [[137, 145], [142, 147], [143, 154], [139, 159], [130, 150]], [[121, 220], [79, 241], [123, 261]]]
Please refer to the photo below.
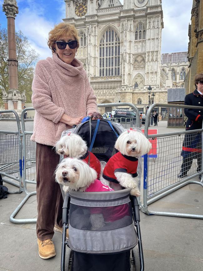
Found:
[[39, 248], [39, 257], [42, 259], [52, 258], [56, 255], [54, 244], [52, 239], [39, 240], [37, 238], [37, 244]]

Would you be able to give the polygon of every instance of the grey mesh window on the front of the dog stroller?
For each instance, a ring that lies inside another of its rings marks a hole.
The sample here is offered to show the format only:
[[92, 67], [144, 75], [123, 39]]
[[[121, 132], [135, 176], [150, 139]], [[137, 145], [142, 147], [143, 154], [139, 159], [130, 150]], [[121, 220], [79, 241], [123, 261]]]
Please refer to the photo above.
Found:
[[131, 203], [109, 207], [70, 204], [69, 223], [85, 231], [110, 231], [132, 224]]

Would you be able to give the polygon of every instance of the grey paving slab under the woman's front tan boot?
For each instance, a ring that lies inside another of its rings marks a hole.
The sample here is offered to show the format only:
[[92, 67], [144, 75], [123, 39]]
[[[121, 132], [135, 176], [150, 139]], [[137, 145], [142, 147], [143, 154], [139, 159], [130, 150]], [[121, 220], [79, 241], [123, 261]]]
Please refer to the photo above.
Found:
[[1, 236], [5, 243], [1, 248], [0, 268], [12, 271], [37, 271], [60, 269], [62, 234], [56, 233], [53, 237], [56, 256], [47, 260], [38, 255], [36, 232], [33, 229], [15, 227], [15, 225], [0, 224]]

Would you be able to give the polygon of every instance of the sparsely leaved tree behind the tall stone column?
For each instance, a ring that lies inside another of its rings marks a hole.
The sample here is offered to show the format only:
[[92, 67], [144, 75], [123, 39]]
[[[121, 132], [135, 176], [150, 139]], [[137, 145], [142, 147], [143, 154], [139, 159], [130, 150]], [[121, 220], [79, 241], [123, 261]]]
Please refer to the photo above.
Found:
[[[32, 80], [34, 68], [39, 60], [27, 37], [22, 31], [16, 32], [16, 55], [18, 61], [18, 90], [22, 93], [25, 90], [27, 103], [31, 103]], [[8, 76], [8, 39], [7, 29], [0, 26], [0, 103], [2, 103], [2, 89], [9, 90]]]

